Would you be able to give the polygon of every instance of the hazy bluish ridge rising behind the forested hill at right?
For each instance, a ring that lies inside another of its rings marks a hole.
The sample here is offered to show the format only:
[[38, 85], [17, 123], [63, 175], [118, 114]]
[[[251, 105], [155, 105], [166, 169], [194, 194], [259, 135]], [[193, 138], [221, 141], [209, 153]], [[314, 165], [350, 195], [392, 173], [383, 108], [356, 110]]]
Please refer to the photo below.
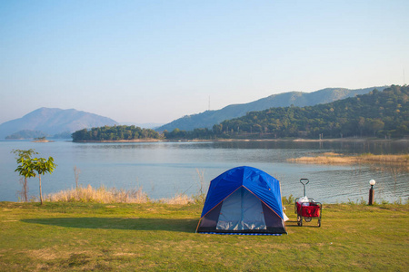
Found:
[[155, 130], [173, 131], [177, 128], [182, 131], [193, 131], [198, 128], [211, 129], [214, 124], [244, 116], [247, 112], [263, 111], [269, 108], [288, 107], [291, 105], [299, 107], [314, 106], [316, 104], [334, 102], [358, 94], [368, 93], [374, 89], [383, 91], [385, 88], [386, 86], [356, 90], [327, 88], [316, 92], [284, 92], [273, 94], [254, 102], [228, 105], [217, 111], [206, 111], [198, 114], [186, 115]]

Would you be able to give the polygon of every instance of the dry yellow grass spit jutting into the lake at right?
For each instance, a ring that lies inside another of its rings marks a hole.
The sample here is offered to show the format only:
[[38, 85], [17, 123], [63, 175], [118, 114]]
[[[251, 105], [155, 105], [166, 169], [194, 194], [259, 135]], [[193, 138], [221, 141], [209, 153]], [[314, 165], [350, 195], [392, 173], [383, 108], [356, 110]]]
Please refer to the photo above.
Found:
[[301, 157], [288, 159], [292, 162], [319, 163], [319, 164], [355, 164], [355, 163], [376, 163], [386, 165], [397, 165], [409, 170], [409, 155], [374, 155], [363, 154], [359, 156], [344, 156], [343, 154], [327, 152], [323, 156]]

